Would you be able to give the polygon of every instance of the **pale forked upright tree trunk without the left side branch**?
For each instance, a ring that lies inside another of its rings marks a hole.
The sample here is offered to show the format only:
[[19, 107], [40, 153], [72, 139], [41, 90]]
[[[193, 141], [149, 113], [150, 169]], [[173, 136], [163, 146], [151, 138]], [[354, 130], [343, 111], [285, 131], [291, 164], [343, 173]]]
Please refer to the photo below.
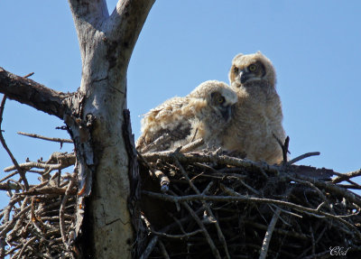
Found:
[[[82, 60], [80, 93], [85, 99], [79, 116], [83, 125], [89, 123], [88, 115], [94, 118], [85, 142], [78, 132], [79, 124], [69, 124], [73, 125], [73, 137], [78, 145], [79, 173], [93, 173], [85, 209], [90, 227], [87, 233], [92, 236], [86, 240], [91, 247], [88, 253], [94, 258], [131, 256], [134, 231], [127, 209], [128, 156], [122, 136], [126, 69], [153, 2], [119, 1], [109, 16], [106, 1], [69, 0]], [[82, 150], [84, 146], [93, 149], [94, 161], [91, 152]]]

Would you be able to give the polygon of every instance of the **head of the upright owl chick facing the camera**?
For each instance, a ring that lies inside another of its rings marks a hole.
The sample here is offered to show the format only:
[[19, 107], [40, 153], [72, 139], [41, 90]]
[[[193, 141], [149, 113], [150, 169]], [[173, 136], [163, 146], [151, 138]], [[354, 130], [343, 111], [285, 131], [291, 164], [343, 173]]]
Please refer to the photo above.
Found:
[[267, 81], [267, 85], [273, 88], [276, 83], [273, 64], [261, 51], [248, 55], [237, 54], [232, 60], [228, 77], [231, 85], [237, 88], [259, 80]]

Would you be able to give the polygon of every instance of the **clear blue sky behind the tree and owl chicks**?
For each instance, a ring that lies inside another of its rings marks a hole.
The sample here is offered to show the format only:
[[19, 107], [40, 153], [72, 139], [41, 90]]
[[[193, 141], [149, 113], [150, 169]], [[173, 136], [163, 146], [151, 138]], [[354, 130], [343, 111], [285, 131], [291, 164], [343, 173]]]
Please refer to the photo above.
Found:
[[[116, 0], [107, 1], [113, 10]], [[135, 137], [140, 116], [208, 79], [228, 82], [233, 57], [262, 51], [277, 71], [291, 157], [339, 172], [361, 167], [361, 1], [158, 0], [128, 69]], [[0, 67], [64, 92], [79, 88], [79, 44], [67, 1], [1, 1]], [[3, 129], [18, 162], [60, 151], [16, 132], [69, 138], [62, 122], [7, 101]], [[71, 151], [65, 144], [63, 151]], [[0, 169], [11, 165], [0, 148]], [[5, 175], [0, 171], [2, 176]], [[2, 178], [2, 177], [0, 177]], [[1, 196], [3, 197], [3, 196]]]

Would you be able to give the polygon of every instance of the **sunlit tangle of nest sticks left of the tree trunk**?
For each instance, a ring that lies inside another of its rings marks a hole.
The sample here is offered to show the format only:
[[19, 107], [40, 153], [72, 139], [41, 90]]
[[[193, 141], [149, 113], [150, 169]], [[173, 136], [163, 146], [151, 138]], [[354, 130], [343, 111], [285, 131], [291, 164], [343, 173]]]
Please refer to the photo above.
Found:
[[[53, 153], [48, 161], [14, 163], [0, 180], [0, 190], [10, 197], [0, 212], [0, 258], [71, 258], [77, 176], [65, 169], [75, 163], [74, 154]], [[26, 175], [34, 173], [40, 175], [39, 182], [30, 184]]]

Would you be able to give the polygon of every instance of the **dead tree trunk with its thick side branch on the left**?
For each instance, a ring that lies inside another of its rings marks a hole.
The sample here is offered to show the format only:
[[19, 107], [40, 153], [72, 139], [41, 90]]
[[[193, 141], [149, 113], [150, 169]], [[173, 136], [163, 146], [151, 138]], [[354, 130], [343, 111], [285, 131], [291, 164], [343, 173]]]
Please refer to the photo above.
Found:
[[75, 93], [56, 92], [0, 69], [1, 93], [58, 116], [68, 126], [80, 181], [76, 236], [87, 233], [82, 256], [131, 257], [129, 158], [122, 134], [126, 70], [154, 1], [119, 0], [109, 15], [105, 0], [69, 0], [82, 60]]

